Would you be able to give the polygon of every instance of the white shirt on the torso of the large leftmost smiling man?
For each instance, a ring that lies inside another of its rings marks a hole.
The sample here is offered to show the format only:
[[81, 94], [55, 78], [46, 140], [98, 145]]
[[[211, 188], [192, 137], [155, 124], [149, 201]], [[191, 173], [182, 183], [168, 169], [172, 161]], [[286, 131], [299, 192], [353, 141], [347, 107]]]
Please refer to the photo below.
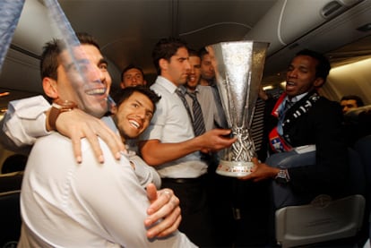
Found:
[[82, 140], [82, 164], [71, 141], [59, 133], [39, 138], [22, 182], [22, 235], [19, 247], [195, 247], [180, 232], [164, 239], [146, 237], [150, 205], [125, 157], [113, 157], [99, 139], [99, 164]]

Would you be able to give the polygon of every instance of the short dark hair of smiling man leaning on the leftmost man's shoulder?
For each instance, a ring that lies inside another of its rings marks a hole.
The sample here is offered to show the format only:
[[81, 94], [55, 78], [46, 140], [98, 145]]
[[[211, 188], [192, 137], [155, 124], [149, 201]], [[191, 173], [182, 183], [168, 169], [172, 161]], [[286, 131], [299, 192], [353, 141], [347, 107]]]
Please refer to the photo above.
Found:
[[117, 107], [119, 107], [127, 98], [130, 98], [130, 96], [133, 95], [134, 92], [142, 93], [146, 97], [150, 98], [153, 104], [153, 113], [156, 111], [156, 103], [159, 102], [161, 97], [158, 94], [156, 94], [155, 91], [151, 90], [148, 87], [145, 87], [144, 85], [126, 87], [124, 89], [116, 91], [113, 98], [116, 102]]

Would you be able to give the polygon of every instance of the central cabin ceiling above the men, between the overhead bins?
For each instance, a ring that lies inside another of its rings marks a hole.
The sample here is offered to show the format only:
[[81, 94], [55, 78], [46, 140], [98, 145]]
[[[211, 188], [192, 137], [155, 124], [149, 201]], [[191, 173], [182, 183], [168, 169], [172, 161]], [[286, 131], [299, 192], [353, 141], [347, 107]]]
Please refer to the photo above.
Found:
[[[73, 29], [99, 39], [103, 53], [119, 70], [127, 64], [154, 73], [151, 49], [168, 36], [198, 49], [241, 40], [276, 0], [60, 0]], [[82, 13], [84, 17], [82, 19]]]

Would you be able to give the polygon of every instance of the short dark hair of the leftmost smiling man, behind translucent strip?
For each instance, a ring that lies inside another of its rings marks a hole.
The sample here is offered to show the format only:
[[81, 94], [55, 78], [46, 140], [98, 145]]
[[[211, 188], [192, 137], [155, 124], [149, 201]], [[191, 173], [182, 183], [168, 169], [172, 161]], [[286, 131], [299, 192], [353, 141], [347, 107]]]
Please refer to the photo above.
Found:
[[[100, 51], [99, 44], [95, 38], [90, 34], [79, 32], [76, 33], [77, 39], [82, 45], [92, 45], [97, 47]], [[41, 54], [40, 60], [40, 73], [41, 79], [45, 77], [52, 78], [57, 80], [56, 69], [60, 64], [58, 56], [65, 50], [65, 43], [61, 39], [54, 38], [51, 41], [47, 42], [43, 47], [43, 52]]]

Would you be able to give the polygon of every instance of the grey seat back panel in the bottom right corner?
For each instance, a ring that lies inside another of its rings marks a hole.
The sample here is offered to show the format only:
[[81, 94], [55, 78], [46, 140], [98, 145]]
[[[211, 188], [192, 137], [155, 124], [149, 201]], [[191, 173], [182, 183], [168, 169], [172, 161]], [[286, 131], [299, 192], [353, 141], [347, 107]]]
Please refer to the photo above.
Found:
[[354, 236], [362, 227], [365, 198], [351, 195], [332, 201], [320, 195], [311, 204], [276, 211], [276, 239], [282, 247], [316, 244]]

